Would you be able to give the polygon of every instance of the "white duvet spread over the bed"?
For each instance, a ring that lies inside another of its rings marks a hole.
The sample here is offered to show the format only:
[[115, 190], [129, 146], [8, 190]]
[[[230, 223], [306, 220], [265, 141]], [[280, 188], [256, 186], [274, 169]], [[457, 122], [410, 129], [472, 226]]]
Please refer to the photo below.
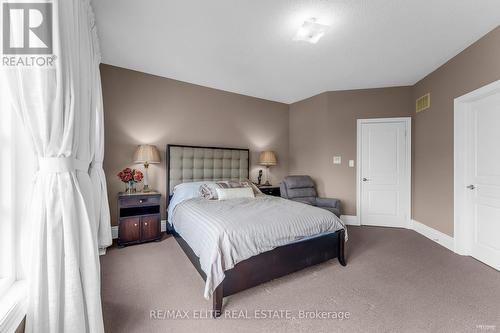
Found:
[[209, 299], [238, 262], [278, 246], [345, 229], [333, 213], [267, 195], [225, 201], [191, 198], [170, 208], [169, 221], [200, 258]]

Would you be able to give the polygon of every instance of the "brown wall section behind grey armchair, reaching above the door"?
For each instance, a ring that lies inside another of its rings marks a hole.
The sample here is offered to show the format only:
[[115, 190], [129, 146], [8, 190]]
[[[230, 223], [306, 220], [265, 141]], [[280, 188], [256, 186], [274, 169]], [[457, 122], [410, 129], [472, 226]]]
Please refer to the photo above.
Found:
[[[327, 92], [290, 106], [290, 174], [307, 174], [319, 194], [356, 215], [356, 119], [409, 117], [411, 87]], [[333, 156], [342, 156], [334, 165]]]

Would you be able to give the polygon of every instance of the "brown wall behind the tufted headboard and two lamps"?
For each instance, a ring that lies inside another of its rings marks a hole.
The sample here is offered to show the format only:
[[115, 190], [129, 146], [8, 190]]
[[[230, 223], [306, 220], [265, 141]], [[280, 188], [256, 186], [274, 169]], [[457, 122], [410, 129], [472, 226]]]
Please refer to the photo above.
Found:
[[272, 182], [288, 174], [288, 105], [109, 65], [101, 66], [101, 78], [104, 170], [113, 225], [116, 194], [125, 187], [116, 174], [127, 166], [141, 167], [132, 164], [133, 152], [141, 143], [155, 144], [162, 152], [162, 163], [151, 165], [149, 175], [163, 199], [168, 143], [249, 148], [252, 179], [259, 169], [258, 153], [272, 149], [278, 155], [278, 166], [271, 169]]

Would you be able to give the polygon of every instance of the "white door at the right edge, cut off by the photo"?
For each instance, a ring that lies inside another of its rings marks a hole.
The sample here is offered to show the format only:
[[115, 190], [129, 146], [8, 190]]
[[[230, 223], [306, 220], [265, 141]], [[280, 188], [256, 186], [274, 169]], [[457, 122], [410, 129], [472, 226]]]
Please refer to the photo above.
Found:
[[467, 217], [471, 255], [500, 270], [500, 93], [470, 104]]

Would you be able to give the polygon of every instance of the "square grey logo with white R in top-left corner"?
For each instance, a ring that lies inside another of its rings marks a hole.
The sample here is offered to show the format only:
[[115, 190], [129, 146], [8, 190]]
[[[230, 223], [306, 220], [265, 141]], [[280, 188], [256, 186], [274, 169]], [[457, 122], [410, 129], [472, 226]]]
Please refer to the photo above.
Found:
[[3, 3], [3, 54], [52, 54], [52, 3]]

